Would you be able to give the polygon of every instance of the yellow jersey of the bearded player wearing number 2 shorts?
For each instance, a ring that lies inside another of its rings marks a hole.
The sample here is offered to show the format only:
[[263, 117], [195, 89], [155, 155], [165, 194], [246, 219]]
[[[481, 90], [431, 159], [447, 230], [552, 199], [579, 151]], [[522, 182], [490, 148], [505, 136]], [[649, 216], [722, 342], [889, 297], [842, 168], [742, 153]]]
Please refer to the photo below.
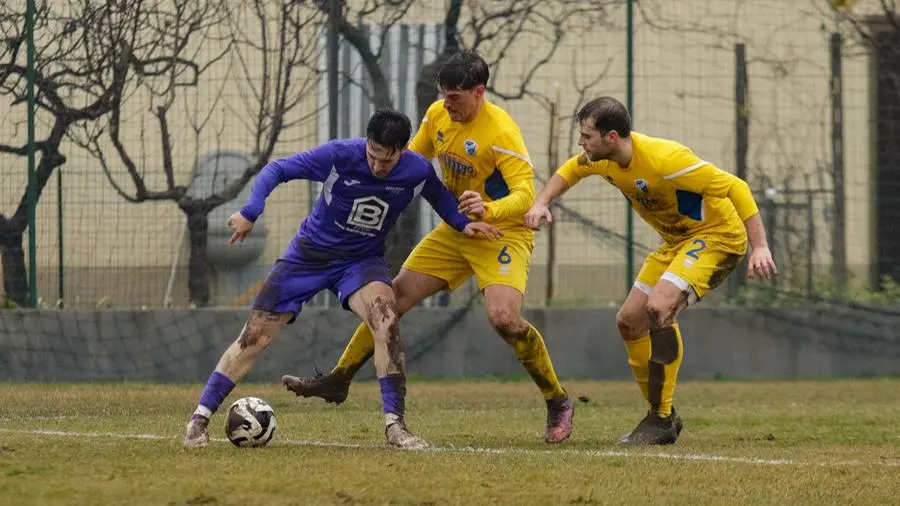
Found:
[[746, 242], [743, 222], [759, 212], [747, 183], [677, 142], [637, 132], [631, 140], [628, 167], [612, 160], [591, 162], [582, 154], [566, 161], [557, 174], [570, 187], [586, 176], [603, 176], [667, 243], [698, 233]]

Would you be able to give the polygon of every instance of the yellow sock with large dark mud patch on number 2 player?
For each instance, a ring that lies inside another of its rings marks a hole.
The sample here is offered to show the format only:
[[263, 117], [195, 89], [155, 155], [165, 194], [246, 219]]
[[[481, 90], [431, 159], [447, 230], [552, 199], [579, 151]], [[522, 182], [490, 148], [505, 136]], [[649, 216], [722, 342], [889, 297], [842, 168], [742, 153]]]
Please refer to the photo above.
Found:
[[672, 399], [684, 345], [677, 323], [650, 331], [650, 408], [662, 416], [672, 414]]

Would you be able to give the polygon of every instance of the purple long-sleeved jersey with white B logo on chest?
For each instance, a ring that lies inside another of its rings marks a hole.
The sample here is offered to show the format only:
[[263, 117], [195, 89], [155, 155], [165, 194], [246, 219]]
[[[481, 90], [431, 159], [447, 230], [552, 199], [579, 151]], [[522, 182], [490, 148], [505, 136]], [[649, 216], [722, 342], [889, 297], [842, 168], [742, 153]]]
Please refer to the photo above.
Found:
[[315, 149], [270, 162], [263, 167], [241, 214], [256, 221], [266, 197], [280, 183], [307, 179], [324, 183], [312, 213], [282, 258], [329, 261], [384, 254], [385, 237], [400, 213], [422, 195], [456, 230], [471, 220], [457, 210], [456, 197], [431, 164], [418, 153], [404, 151], [384, 178], [372, 174], [366, 139], [335, 140]]

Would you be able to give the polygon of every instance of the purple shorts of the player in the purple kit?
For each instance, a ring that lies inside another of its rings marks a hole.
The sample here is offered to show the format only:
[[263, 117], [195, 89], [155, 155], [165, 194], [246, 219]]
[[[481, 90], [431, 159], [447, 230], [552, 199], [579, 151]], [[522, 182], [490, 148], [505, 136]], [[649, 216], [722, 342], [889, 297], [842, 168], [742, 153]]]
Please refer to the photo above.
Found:
[[392, 286], [391, 272], [382, 257], [330, 263], [278, 260], [256, 296], [253, 309], [294, 313], [289, 322], [293, 323], [303, 304], [327, 288], [349, 310], [350, 296], [373, 281]]

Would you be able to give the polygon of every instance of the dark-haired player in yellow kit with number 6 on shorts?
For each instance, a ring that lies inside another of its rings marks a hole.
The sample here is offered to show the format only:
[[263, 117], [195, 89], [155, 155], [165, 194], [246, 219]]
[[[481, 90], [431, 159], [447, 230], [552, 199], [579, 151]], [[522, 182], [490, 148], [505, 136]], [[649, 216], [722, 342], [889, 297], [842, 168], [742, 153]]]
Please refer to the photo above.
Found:
[[[556, 377], [541, 333], [522, 316], [534, 247], [534, 232], [524, 218], [534, 202], [534, 170], [519, 126], [484, 98], [488, 77], [487, 63], [474, 52], [449, 58], [437, 77], [444, 99], [429, 107], [409, 148], [426, 158], [437, 157], [460, 210], [497, 226], [503, 236], [466, 241], [459, 232], [438, 225], [394, 278], [397, 311], [402, 315], [426, 297], [456, 289], [474, 274], [488, 320], [543, 393], [545, 441], [560, 443], [572, 432], [574, 405]], [[297, 395], [340, 404], [373, 350], [371, 331], [360, 325], [330, 374], [285, 376], [282, 381]]]

